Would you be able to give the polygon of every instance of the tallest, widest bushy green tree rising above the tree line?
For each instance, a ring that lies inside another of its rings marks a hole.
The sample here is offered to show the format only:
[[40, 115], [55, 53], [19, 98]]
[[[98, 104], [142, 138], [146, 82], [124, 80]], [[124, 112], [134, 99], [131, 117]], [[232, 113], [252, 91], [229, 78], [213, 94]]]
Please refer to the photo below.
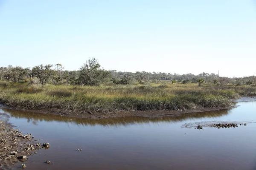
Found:
[[99, 61], [91, 58], [81, 66], [79, 71], [78, 83], [81, 85], [100, 85], [106, 78], [110, 76], [110, 72], [100, 68]]

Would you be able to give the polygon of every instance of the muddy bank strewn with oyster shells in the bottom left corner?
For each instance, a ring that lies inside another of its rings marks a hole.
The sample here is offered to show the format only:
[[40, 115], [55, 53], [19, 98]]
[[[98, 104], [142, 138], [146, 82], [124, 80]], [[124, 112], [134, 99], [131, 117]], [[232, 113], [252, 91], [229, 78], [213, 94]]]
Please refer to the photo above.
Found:
[[[8, 116], [8, 115], [6, 115]], [[1, 114], [1, 118], [3, 118]], [[37, 150], [46, 148], [34, 139], [32, 134], [22, 134], [6, 119], [0, 119], [0, 169], [9, 169], [12, 165], [22, 162], [25, 164], [29, 156]], [[22, 167], [20, 163], [20, 167]]]

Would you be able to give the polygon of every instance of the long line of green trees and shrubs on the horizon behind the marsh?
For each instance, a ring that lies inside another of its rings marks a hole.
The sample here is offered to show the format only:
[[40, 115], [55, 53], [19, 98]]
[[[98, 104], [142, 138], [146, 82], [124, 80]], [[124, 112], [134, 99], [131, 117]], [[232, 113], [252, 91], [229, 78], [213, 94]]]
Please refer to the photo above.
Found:
[[90, 58], [84, 63], [78, 71], [64, 70], [61, 64], [38, 65], [33, 68], [22, 68], [20, 66], [0, 67], [0, 81], [22, 82], [29, 79], [38, 82], [41, 85], [52, 83], [55, 85], [101, 85], [102, 83], [113, 84], [144, 84], [147, 82], [170, 81], [172, 83], [213, 83], [213, 84], [234, 84], [251, 85], [255, 84], [256, 79], [251, 77], [219, 77], [218, 74], [201, 73], [194, 74], [170, 74], [161, 72], [136, 71], [121, 72], [116, 70], [105, 70], [101, 68], [96, 58]]

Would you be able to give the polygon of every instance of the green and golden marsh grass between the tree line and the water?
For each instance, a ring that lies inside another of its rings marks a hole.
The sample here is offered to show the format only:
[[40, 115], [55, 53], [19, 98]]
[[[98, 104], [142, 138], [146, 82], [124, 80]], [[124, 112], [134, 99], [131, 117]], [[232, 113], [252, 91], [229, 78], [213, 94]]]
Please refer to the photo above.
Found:
[[9, 106], [73, 111], [176, 110], [229, 107], [256, 87], [196, 84], [103, 85], [100, 87], [0, 82], [0, 102]]

